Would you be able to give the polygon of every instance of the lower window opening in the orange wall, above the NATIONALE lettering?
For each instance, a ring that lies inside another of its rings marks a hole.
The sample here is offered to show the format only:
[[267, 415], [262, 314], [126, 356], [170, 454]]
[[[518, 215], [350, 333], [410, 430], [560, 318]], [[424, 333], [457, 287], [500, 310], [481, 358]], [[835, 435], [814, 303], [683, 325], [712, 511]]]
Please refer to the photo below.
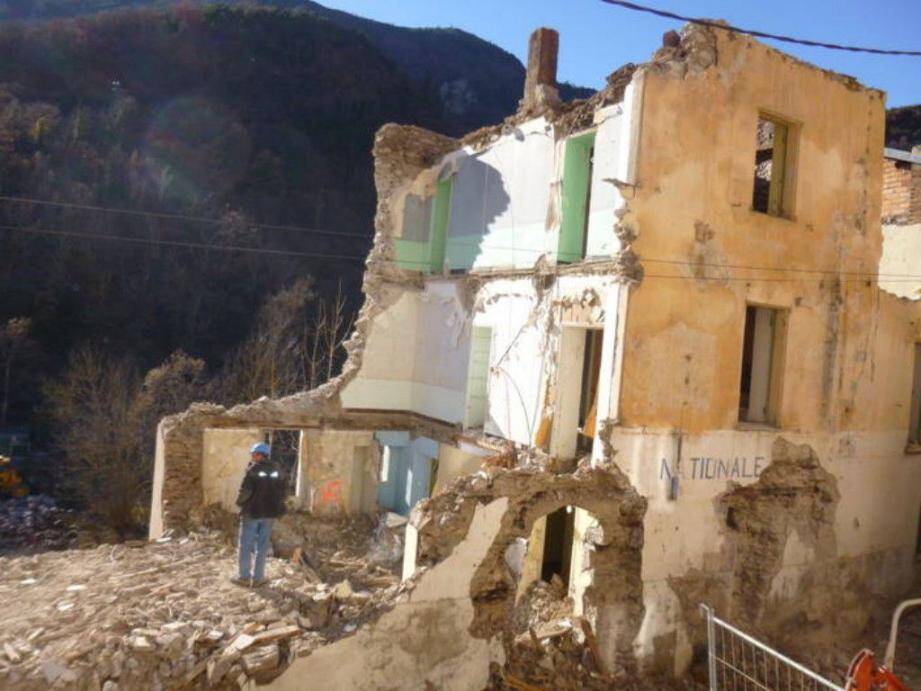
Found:
[[739, 420], [776, 424], [786, 317], [782, 310], [745, 308]]

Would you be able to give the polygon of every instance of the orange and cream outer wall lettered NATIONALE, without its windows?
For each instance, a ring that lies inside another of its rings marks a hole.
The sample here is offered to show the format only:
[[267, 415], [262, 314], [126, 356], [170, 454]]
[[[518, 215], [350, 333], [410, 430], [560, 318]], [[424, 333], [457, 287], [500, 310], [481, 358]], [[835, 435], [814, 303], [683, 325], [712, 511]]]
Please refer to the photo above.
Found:
[[[769, 640], [818, 644], [860, 628], [867, 594], [910, 584], [921, 313], [872, 279], [880, 92], [719, 30], [685, 29], [657, 58], [640, 68], [621, 216], [644, 273], [604, 442], [649, 500], [638, 655], [681, 673], [702, 641], [699, 602]], [[802, 125], [790, 218], [750, 208], [759, 111]], [[747, 304], [789, 311], [779, 429], [738, 424]]]

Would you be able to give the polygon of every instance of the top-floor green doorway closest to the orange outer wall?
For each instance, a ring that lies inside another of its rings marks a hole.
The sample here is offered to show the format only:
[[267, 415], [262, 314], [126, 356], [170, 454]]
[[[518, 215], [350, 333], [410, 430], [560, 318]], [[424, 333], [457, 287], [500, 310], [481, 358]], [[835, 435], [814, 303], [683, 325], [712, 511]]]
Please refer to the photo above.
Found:
[[573, 137], [566, 142], [563, 158], [563, 222], [557, 261], [576, 262], [585, 248], [585, 227], [588, 220], [592, 149], [595, 133]]

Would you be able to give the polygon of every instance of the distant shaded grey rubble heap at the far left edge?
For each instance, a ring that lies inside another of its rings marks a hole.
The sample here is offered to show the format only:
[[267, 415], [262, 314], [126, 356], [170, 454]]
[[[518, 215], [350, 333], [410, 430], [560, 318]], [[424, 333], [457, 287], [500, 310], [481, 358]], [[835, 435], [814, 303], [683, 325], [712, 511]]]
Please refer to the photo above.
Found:
[[76, 546], [72, 511], [49, 496], [35, 494], [0, 501], [0, 553]]

